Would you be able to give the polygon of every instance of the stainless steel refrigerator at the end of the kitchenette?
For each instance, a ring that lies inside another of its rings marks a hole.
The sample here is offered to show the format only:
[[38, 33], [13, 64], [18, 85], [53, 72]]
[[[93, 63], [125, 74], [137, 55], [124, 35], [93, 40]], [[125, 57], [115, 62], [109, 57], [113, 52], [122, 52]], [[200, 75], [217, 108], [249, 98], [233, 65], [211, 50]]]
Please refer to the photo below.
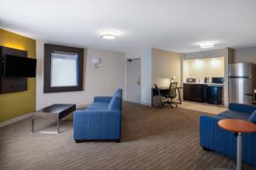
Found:
[[253, 94], [256, 89], [256, 66], [251, 63], [229, 65], [229, 102], [252, 105], [253, 98], [245, 94]]

